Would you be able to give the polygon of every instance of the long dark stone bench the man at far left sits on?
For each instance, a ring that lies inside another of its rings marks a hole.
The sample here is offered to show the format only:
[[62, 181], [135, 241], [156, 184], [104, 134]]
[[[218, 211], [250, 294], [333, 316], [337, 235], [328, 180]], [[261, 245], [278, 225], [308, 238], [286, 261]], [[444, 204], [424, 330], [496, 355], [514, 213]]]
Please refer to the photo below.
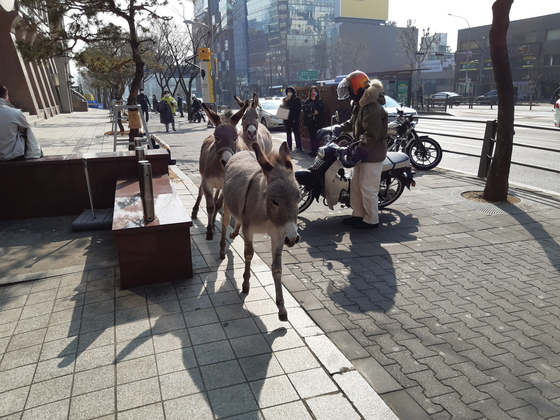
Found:
[[[134, 177], [134, 152], [46, 156], [41, 159], [0, 162], [0, 220], [79, 215], [89, 209], [82, 158], [88, 160], [93, 204], [113, 208], [117, 178]], [[169, 154], [146, 150], [154, 175], [167, 174]]]

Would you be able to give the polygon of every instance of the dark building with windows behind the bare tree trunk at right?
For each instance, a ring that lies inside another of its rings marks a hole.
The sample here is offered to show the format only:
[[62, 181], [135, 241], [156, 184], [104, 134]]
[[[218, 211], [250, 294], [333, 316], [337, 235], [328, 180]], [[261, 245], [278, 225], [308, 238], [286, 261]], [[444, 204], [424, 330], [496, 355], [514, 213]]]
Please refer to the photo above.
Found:
[[[496, 88], [490, 59], [491, 25], [461, 29], [455, 91], [478, 96]], [[560, 13], [511, 21], [508, 54], [517, 100], [548, 100], [560, 87]]]

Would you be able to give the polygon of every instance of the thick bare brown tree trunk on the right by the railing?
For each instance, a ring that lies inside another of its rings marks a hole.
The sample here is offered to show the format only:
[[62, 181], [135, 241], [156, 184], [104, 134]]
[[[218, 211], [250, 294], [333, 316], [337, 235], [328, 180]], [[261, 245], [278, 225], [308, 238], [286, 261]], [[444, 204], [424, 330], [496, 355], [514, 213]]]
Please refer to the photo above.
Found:
[[509, 11], [513, 0], [496, 0], [492, 6], [490, 28], [490, 56], [498, 90], [498, 130], [496, 151], [490, 165], [483, 198], [487, 201], [505, 201], [513, 150], [514, 99], [513, 80], [507, 50]]

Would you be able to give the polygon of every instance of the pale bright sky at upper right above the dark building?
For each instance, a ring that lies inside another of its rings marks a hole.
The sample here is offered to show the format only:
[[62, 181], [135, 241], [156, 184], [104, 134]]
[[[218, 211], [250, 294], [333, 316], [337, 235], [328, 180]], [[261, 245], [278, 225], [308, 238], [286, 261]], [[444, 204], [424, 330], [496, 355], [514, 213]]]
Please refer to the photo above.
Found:
[[[406, 26], [408, 19], [416, 20], [420, 30], [430, 28], [430, 33], [447, 33], [447, 45], [457, 49], [457, 31], [475, 26], [492, 24], [494, 0], [389, 0], [389, 20], [397, 26]], [[465, 19], [449, 16], [461, 16]], [[560, 13], [560, 0], [514, 0], [510, 21]]]

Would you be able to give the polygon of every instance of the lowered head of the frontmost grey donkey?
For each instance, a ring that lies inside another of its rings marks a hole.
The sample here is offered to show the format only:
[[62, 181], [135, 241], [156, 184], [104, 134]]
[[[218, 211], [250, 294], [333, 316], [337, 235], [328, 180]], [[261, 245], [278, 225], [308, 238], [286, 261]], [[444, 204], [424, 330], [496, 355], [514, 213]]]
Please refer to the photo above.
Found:
[[282, 143], [279, 153], [271, 152], [268, 156], [257, 143], [253, 143], [252, 147], [268, 184], [266, 188], [268, 219], [279, 231], [284, 232], [284, 244], [292, 247], [299, 242], [297, 215], [300, 193], [288, 144]]

